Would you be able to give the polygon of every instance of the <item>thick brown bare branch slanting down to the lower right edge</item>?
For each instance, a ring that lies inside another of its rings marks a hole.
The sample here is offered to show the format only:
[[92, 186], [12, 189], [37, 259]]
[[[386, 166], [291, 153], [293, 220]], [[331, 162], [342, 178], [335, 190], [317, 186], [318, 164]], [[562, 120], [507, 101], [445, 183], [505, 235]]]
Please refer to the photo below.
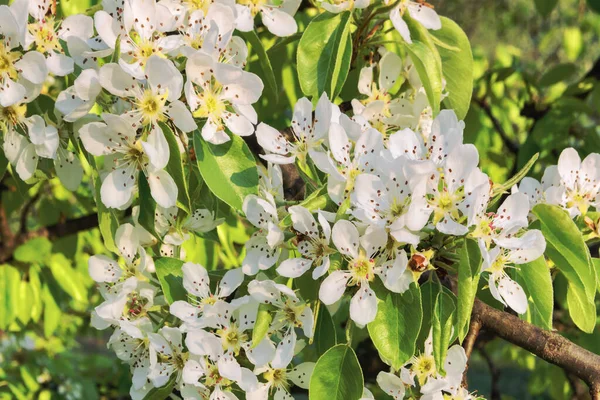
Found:
[[471, 319], [479, 321], [483, 329], [582, 379], [589, 386], [592, 399], [600, 400], [600, 355], [477, 299]]

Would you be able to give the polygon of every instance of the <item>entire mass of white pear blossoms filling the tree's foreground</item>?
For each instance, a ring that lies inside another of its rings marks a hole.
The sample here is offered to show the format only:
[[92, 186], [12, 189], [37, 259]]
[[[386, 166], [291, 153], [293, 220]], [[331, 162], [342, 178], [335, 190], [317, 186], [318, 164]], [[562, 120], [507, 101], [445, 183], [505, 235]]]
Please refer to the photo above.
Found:
[[[501, 185], [479, 168], [462, 116], [432, 103], [422, 72], [419, 44], [428, 29], [442, 29], [427, 3], [318, 5], [332, 18], [355, 16], [360, 40], [352, 45], [389, 26], [396, 42], [414, 47], [374, 44], [354, 98], [334, 89], [307, 94], [289, 110], [287, 130], [257, 113], [269, 78], [247, 66], [251, 54], [261, 57], [255, 30], [297, 33], [297, 0], [104, 0], [62, 21], [49, 0], [0, 6], [0, 116], [11, 172], [27, 182], [56, 176], [73, 191], [91, 176], [105, 220], [133, 208], [131, 221], [101, 222], [115, 254], [89, 259], [103, 298], [92, 325], [112, 330], [108, 344], [131, 367], [133, 398], [279, 400], [293, 387], [323, 398], [317, 391], [328, 372], [319, 363], [329, 352], [315, 365], [305, 349], [327, 340], [318, 335], [322, 315], [344, 309], [349, 345], [353, 329], [367, 327], [390, 365], [377, 377], [381, 391], [395, 399], [477, 398], [461, 384], [465, 351], [452, 345], [464, 339], [470, 310], [446, 313], [457, 305], [445, 274], [457, 275], [463, 253], [467, 264], [474, 257], [472, 281], [483, 276], [483, 290], [525, 314], [531, 293], [515, 271], [544, 260], [547, 247], [534, 207], [552, 205], [570, 218], [598, 209], [598, 154], [581, 161], [566, 149], [541, 182], [523, 178], [525, 170]], [[448, 85], [438, 89], [438, 102], [452, 99]], [[41, 99], [52, 104], [42, 110]], [[251, 161], [254, 187], [234, 176], [248, 168], [195, 165], [236, 143], [247, 148], [239, 137], [252, 135], [262, 148]], [[288, 164], [305, 183], [303, 201], [284, 196]], [[219, 184], [235, 185], [225, 194], [209, 177], [223, 171], [233, 173]], [[200, 201], [202, 185], [233, 212]], [[216, 270], [191, 262], [184, 244], [214, 235], [231, 217], [249, 232], [240, 262]], [[586, 223], [599, 234], [597, 221]], [[388, 303], [420, 298], [425, 281], [439, 290], [429, 325], [420, 316], [421, 335], [394, 342], [384, 326]], [[459, 297], [462, 284], [459, 277]], [[408, 357], [394, 350], [405, 340]]]

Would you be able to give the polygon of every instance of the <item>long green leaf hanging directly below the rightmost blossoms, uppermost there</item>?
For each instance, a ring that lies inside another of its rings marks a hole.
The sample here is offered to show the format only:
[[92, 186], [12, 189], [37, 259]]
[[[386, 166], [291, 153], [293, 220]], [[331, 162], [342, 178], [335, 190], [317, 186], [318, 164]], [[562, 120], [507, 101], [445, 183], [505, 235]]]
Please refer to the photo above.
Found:
[[596, 295], [596, 273], [590, 251], [575, 222], [558, 206], [538, 204], [533, 208], [533, 213], [540, 220], [548, 258], [572, 285], [584, 291], [589, 302], [593, 302]]

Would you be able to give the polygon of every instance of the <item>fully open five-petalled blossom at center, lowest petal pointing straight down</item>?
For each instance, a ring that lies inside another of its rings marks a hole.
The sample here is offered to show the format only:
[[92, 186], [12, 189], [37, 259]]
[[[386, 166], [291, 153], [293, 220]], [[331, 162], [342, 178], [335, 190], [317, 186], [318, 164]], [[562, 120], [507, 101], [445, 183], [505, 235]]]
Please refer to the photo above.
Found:
[[323, 304], [331, 305], [342, 297], [348, 287], [356, 286], [358, 290], [350, 301], [350, 318], [357, 325], [364, 326], [377, 314], [377, 298], [369, 283], [377, 275], [388, 290], [397, 291], [394, 284], [406, 269], [406, 263], [401, 262], [402, 258], [388, 261], [377, 257], [388, 241], [382, 228], [369, 227], [359, 237], [352, 222], [339, 220], [333, 226], [331, 238], [345, 256], [348, 267], [325, 278], [319, 289], [319, 298]]

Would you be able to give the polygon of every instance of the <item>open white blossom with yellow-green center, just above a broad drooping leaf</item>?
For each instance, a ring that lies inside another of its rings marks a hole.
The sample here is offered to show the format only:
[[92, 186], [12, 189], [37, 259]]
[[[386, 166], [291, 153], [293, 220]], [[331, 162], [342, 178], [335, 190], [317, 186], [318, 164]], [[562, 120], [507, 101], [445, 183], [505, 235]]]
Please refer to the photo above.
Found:
[[191, 55], [186, 63], [185, 97], [196, 118], [206, 119], [202, 137], [222, 144], [233, 134], [248, 136], [257, 123], [252, 104], [262, 94], [260, 78], [234, 65], [224, 64], [204, 51]]

